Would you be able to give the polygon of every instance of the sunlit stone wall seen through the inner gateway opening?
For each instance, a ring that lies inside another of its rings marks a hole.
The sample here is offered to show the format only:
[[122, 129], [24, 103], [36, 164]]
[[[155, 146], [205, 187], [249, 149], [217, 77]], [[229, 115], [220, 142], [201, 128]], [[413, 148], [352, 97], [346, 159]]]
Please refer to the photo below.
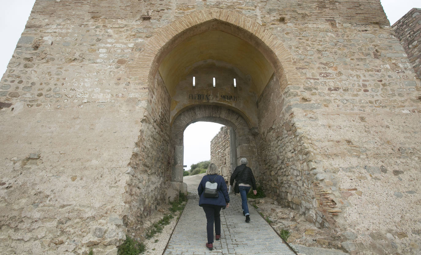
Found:
[[210, 141], [210, 162], [218, 166], [225, 181], [229, 181], [232, 175], [229, 130], [230, 127], [222, 127], [219, 133]]

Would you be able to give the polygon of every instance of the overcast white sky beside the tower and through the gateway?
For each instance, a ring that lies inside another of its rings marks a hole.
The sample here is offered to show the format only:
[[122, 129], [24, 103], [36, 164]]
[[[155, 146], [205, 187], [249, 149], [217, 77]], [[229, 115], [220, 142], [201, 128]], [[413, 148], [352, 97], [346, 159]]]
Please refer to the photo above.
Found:
[[[56, 0], [57, 1], [57, 0]], [[16, 43], [25, 28], [35, 0], [0, 0], [0, 75], [3, 76]], [[421, 8], [420, 0], [381, 0], [390, 24], [393, 25], [412, 8]], [[196, 122], [184, 131], [184, 165], [210, 159], [210, 140], [222, 125]]]

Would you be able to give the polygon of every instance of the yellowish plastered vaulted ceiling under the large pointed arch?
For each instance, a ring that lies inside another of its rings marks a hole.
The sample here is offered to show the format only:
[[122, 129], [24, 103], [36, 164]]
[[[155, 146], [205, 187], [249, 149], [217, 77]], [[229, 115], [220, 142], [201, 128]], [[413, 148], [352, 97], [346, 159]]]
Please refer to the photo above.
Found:
[[234, 35], [219, 30], [204, 32], [179, 43], [165, 56], [159, 72], [173, 96], [176, 86], [186, 79], [197, 63], [205, 60], [222, 61], [251, 77], [250, 92], [261, 94], [274, 70], [266, 58], [252, 45]]

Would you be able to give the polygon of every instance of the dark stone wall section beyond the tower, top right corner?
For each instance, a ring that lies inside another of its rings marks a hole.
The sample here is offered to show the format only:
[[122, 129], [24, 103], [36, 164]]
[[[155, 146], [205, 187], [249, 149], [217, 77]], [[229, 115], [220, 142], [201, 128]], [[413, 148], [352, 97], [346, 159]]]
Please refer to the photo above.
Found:
[[408, 54], [410, 64], [421, 77], [421, 9], [412, 8], [393, 24], [393, 29]]

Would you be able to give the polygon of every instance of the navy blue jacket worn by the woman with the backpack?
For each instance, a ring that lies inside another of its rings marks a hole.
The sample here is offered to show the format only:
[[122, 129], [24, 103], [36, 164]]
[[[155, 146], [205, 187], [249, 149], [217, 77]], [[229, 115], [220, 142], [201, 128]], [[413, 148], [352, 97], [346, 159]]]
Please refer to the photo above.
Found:
[[221, 175], [217, 175], [215, 178], [215, 182], [218, 183], [218, 190], [219, 190], [219, 196], [218, 197], [205, 197], [204, 192], [205, 191], [205, 184], [207, 181], [209, 181], [208, 176], [210, 178], [210, 181], [213, 181], [213, 178], [215, 178], [216, 175], [205, 175], [202, 178], [202, 181], [200, 181], [199, 187], [197, 187], [197, 192], [199, 194], [199, 205], [226, 205], [226, 203], [229, 203], [229, 195], [228, 191], [226, 190], [226, 183], [224, 180], [224, 177]]

